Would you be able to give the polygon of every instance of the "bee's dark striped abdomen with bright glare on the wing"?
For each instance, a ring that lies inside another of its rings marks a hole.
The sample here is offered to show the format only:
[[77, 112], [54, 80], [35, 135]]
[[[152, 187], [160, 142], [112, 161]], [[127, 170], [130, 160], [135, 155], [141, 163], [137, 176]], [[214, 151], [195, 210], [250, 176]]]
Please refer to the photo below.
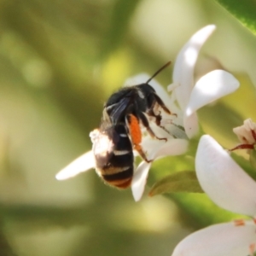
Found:
[[96, 173], [105, 183], [119, 189], [128, 188], [133, 176], [134, 156], [125, 124], [113, 125], [106, 109], [102, 124], [90, 133], [96, 160]]

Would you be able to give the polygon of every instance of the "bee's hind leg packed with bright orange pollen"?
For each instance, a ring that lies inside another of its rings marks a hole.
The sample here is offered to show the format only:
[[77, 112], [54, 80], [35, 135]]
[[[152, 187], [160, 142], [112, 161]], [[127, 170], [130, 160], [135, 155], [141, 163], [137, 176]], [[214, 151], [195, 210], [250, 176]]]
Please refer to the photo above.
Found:
[[131, 142], [133, 144], [133, 148], [137, 150], [138, 154], [141, 155], [143, 160], [150, 163], [152, 160], [148, 160], [146, 154], [143, 152], [143, 148], [141, 146], [142, 143], [142, 131], [139, 125], [139, 120], [133, 114], [129, 114], [126, 117], [126, 125], [129, 127]]

